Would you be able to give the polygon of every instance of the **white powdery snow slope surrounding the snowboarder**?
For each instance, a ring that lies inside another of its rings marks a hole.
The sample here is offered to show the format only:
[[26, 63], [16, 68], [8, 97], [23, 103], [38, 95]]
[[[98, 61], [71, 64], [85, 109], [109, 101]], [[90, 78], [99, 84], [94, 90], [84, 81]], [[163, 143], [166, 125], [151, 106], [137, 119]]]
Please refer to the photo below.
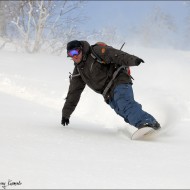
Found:
[[146, 62], [131, 70], [163, 127], [153, 139], [131, 141], [134, 128], [89, 88], [63, 127], [71, 60], [0, 51], [0, 189], [190, 188], [190, 54], [125, 50]]

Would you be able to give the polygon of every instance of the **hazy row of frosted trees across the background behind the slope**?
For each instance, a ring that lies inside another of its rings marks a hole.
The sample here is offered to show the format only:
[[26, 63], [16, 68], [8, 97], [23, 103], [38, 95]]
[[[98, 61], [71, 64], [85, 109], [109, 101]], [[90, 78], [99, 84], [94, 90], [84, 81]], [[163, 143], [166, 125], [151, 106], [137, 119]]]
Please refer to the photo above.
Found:
[[84, 39], [121, 44], [128, 39], [136, 39], [145, 46], [159, 42], [171, 46], [186, 44], [190, 48], [190, 3], [187, 8], [186, 33], [178, 43], [175, 36], [179, 33], [176, 21], [160, 7], [155, 7], [143, 22], [127, 28], [128, 35], [120, 35], [114, 26], [104, 26], [90, 33], [81, 31], [79, 24], [87, 22], [80, 9], [86, 1], [20, 0], [0, 1], [0, 49], [7, 43], [15, 44], [29, 53], [42, 50], [61, 54], [68, 41]]

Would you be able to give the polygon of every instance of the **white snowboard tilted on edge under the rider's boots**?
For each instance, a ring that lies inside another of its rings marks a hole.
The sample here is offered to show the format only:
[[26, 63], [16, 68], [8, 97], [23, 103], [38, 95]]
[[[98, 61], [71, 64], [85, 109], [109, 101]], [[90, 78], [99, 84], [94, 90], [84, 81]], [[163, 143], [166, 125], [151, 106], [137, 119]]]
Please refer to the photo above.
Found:
[[132, 134], [131, 140], [143, 140], [146, 137], [149, 137], [151, 134], [155, 133], [156, 131], [158, 130], [153, 129], [152, 127], [143, 127]]

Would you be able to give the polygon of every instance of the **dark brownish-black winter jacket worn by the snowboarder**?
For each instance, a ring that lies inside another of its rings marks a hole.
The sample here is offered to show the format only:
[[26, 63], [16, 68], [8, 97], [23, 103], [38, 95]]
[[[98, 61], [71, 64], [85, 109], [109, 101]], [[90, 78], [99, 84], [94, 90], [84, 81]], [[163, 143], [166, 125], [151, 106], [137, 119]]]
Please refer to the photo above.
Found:
[[[69, 118], [75, 110], [86, 84], [95, 92], [102, 94], [118, 67], [122, 65], [136, 66], [136, 59], [138, 58], [111, 46], [95, 45], [93, 50], [104, 61], [99, 63], [91, 55], [92, 47], [89, 43], [86, 41], [81, 41], [81, 43], [83, 58], [80, 63], [75, 63], [66, 102], [62, 109], [62, 115], [66, 118]], [[112, 98], [115, 86], [123, 83], [132, 84], [131, 77], [125, 71], [121, 71], [114, 79], [111, 88], [104, 96], [106, 102]]]

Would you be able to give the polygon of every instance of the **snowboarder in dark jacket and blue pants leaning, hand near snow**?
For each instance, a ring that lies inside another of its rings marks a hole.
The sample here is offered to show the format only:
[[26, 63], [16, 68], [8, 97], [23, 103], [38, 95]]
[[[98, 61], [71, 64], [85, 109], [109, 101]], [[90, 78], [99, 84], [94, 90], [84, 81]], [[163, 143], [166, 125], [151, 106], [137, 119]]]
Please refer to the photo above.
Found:
[[87, 84], [103, 95], [107, 104], [137, 129], [149, 126], [159, 129], [160, 124], [134, 100], [130, 66], [144, 61], [104, 43], [90, 46], [87, 41], [73, 40], [67, 44], [67, 56], [74, 61], [70, 86], [62, 109], [62, 125], [68, 125], [81, 93]]

